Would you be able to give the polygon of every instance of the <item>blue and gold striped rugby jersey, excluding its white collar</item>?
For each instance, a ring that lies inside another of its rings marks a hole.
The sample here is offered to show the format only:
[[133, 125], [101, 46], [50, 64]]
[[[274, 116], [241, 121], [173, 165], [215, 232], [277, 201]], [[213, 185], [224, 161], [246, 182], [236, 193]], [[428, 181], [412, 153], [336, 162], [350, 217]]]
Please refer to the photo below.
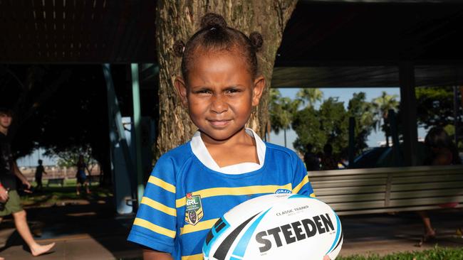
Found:
[[207, 232], [232, 207], [277, 192], [314, 196], [296, 153], [265, 144], [264, 165], [241, 174], [207, 168], [189, 142], [165, 153], [152, 170], [128, 240], [175, 260], [199, 260]]

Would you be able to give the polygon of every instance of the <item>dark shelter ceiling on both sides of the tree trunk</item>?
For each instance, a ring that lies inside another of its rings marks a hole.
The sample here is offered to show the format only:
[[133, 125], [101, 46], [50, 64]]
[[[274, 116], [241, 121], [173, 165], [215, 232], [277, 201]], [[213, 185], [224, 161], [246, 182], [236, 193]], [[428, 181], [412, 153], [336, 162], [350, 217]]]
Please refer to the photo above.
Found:
[[[154, 63], [155, 1], [0, 1], [0, 63]], [[302, 0], [276, 57], [274, 87], [463, 84], [463, 1]]]

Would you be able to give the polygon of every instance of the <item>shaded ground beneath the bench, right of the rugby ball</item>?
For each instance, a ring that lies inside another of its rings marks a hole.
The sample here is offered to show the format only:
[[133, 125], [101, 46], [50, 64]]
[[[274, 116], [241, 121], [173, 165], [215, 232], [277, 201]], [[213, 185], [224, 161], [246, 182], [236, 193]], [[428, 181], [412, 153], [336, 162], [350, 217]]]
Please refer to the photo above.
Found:
[[436, 245], [463, 247], [463, 237], [456, 232], [459, 227], [463, 227], [462, 209], [433, 211], [430, 217], [437, 232], [437, 240], [422, 244], [421, 247], [419, 242], [424, 231], [420, 217], [415, 212], [341, 217], [344, 244], [340, 255], [385, 255], [400, 251], [422, 251]]

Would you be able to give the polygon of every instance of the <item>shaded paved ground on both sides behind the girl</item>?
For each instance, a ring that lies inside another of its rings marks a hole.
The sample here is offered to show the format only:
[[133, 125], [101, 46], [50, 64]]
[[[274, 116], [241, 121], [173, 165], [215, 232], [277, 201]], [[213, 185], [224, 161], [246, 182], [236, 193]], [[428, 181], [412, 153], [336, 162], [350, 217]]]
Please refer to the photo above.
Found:
[[[32, 257], [14, 232], [11, 220], [1, 223], [0, 256], [14, 259], [141, 259], [139, 247], [125, 241], [132, 217], [117, 217], [113, 208], [100, 202], [28, 210], [40, 243], [56, 242], [52, 254]], [[463, 247], [463, 238], [455, 235], [463, 227], [463, 210], [431, 213], [439, 246]], [[414, 212], [397, 215], [358, 215], [341, 217], [345, 240], [340, 255], [390, 254], [396, 251], [430, 249], [434, 244], [420, 241], [422, 224]]]

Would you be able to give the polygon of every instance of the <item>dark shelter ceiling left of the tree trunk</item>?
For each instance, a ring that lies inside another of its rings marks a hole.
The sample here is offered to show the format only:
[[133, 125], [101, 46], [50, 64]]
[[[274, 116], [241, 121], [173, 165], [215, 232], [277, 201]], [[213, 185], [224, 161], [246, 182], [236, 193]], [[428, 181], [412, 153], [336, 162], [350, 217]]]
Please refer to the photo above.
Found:
[[0, 63], [153, 63], [155, 1], [0, 1]]

